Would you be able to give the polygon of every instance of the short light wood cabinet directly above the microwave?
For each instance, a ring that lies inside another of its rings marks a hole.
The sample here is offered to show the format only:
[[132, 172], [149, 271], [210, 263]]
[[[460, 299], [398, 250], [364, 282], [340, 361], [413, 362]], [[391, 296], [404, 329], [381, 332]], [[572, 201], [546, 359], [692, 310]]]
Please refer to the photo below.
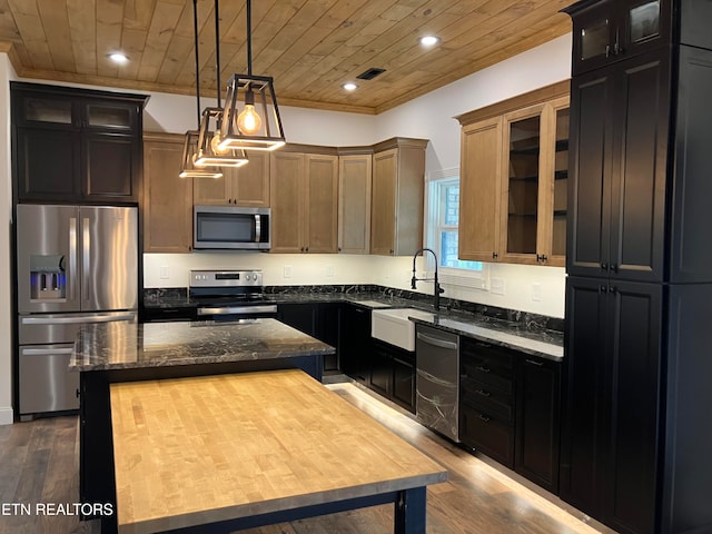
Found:
[[196, 205], [269, 206], [269, 154], [253, 150], [243, 167], [222, 167], [221, 178], [194, 180]]

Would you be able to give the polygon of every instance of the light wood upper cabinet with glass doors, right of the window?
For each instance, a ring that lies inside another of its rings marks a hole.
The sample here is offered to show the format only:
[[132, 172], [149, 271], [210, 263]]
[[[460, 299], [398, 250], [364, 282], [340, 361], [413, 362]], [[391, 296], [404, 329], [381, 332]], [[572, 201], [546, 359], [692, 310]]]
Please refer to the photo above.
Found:
[[568, 82], [459, 117], [459, 258], [563, 266]]

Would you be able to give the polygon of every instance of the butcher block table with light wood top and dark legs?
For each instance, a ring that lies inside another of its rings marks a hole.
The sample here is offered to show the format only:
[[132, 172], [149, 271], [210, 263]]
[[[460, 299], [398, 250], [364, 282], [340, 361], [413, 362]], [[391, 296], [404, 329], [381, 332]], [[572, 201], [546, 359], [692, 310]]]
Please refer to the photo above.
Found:
[[[121, 534], [225, 532], [395, 503], [447, 472], [299, 369], [110, 386]], [[209, 525], [210, 528], [207, 528]]]

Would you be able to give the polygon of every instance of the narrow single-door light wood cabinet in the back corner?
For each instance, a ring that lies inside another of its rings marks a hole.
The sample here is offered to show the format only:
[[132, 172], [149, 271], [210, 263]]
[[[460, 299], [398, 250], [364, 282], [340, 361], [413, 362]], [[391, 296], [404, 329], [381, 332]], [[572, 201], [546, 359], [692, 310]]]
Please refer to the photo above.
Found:
[[338, 251], [370, 251], [372, 154], [338, 158]]

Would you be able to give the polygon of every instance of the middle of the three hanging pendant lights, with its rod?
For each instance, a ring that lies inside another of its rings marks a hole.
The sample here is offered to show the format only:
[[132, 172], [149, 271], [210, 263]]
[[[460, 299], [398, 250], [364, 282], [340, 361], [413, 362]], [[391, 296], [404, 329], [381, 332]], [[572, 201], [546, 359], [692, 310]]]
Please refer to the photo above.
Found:
[[[222, 146], [220, 142], [224, 111], [220, 107], [220, 14], [218, 0], [215, 0], [215, 59], [218, 105], [216, 108], [202, 110], [198, 152], [194, 162], [196, 167], [241, 167], [247, 164], [245, 150], [241, 147]], [[211, 129], [212, 126], [215, 129]]]

